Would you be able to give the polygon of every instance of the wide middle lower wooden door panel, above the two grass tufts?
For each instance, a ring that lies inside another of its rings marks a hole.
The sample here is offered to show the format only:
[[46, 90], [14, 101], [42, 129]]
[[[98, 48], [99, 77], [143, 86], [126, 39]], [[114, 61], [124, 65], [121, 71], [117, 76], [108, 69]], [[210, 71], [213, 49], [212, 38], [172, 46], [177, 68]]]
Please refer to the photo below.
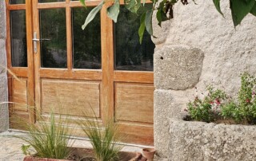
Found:
[[42, 113], [56, 112], [70, 116], [100, 117], [99, 81], [64, 81], [42, 79]]

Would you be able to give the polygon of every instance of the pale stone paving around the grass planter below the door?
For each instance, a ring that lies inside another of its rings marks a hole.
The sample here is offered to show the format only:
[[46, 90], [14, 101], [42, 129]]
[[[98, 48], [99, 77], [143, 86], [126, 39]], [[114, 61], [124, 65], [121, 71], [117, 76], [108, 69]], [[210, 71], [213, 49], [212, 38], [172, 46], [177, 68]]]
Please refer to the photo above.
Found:
[[[0, 133], [0, 161], [22, 161], [24, 155], [21, 147], [24, 143], [11, 135], [26, 135], [22, 132], [2, 132]], [[26, 144], [26, 143], [24, 143]], [[90, 142], [86, 139], [74, 139], [74, 147], [91, 147]], [[142, 147], [125, 146], [122, 151], [142, 151]]]

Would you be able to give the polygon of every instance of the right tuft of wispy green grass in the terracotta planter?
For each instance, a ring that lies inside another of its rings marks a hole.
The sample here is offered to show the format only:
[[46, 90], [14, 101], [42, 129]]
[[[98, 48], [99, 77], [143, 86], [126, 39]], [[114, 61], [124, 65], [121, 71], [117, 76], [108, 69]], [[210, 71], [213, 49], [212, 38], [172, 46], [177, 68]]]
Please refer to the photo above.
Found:
[[94, 120], [85, 117], [85, 120], [79, 120], [78, 124], [90, 139], [97, 161], [118, 160], [118, 152], [122, 146], [118, 145], [121, 136], [118, 124], [114, 124], [114, 120], [107, 119], [102, 126], [94, 113]]

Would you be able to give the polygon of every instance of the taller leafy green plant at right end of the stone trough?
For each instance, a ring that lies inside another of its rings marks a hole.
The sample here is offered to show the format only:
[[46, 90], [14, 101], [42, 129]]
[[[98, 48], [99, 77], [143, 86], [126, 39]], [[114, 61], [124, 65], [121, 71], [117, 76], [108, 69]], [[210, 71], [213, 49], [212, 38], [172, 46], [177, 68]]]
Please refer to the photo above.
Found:
[[242, 73], [238, 102], [234, 100], [222, 107], [222, 116], [238, 123], [256, 124], [256, 78]]

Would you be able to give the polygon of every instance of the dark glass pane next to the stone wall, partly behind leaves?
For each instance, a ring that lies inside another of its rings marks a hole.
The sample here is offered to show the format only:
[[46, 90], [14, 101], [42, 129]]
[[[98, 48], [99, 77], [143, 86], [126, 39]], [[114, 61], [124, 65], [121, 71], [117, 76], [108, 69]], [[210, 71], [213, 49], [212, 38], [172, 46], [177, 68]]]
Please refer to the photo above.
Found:
[[[147, 8], [152, 5], [146, 5]], [[130, 13], [125, 6], [120, 7], [118, 22], [115, 24], [115, 69], [153, 71], [154, 43], [150, 34], [144, 33], [139, 43], [138, 28], [140, 17]]]

